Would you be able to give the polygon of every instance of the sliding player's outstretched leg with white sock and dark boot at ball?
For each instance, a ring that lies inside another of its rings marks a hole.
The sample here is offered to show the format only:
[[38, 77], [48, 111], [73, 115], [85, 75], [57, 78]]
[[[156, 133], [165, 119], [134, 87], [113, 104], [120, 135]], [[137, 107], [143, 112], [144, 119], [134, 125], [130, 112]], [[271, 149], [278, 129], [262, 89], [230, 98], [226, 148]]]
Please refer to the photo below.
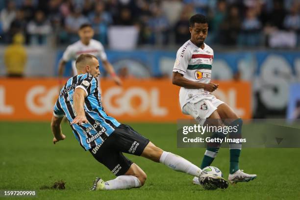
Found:
[[[199, 167], [197, 167], [190, 161], [184, 159], [181, 156], [175, 155], [174, 153], [163, 151], [151, 142], [149, 142], [147, 147], [144, 149], [142, 156], [154, 162], [160, 162], [175, 171], [183, 172], [188, 175], [200, 177], [200, 174], [202, 172]], [[228, 187], [228, 182], [220, 176], [207, 175], [205, 177], [203, 176], [200, 181], [205, 182], [205, 184], [212, 184], [222, 189]]]

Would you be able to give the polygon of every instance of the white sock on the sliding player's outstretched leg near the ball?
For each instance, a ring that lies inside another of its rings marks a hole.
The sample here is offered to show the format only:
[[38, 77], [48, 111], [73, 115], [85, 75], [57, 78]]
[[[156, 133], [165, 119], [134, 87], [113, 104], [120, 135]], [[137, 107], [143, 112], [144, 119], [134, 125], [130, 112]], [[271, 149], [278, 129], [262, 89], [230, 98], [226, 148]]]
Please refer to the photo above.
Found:
[[180, 157], [179, 155], [175, 155], [171, 152], [164, 151], [161, 154], [159, 162], [175, 171], [184, 172], [186, 174], [197, 176], [197, 177], [199, 177], [200, 173], [202, 172], [202, 170], [199, 167], [197, 167], [190, 161], [184, 159], [183, 157]]

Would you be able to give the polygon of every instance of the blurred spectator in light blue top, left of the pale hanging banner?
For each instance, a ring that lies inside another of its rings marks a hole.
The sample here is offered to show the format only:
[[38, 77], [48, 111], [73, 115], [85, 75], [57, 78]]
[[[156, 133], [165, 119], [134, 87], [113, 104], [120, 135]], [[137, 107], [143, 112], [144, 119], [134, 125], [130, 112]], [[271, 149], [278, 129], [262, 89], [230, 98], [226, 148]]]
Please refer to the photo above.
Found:
[[242, 23], [242, 33], [239, 44], [246, 46], [257, 46], [260, 43], [261, 23], [253, 8], [249, 8], [246, 18]]

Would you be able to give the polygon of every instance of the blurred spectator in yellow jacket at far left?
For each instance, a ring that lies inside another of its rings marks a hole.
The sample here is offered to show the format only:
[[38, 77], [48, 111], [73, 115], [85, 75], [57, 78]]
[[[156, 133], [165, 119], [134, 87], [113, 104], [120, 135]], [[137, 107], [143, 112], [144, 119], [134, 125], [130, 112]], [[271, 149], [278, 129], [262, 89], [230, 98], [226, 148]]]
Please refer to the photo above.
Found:
[[18, 33], [13, 37], [13, 44], [7, 46], [4, 52], [4, 64], [8, 77], [23, 77], [27, 54], [23, 46], [24, 37]]

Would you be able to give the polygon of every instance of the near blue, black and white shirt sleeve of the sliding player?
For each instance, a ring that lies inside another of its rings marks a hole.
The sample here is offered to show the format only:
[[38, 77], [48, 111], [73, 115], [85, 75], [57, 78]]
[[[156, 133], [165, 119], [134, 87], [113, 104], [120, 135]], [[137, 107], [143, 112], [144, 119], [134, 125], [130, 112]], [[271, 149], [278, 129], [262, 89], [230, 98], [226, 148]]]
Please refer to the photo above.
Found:
[[98, 81], [93, 75], [87, 73], [83, 75], [78, 81], [78, 84], [75, 87], [75, 89], [76, 88], [83, 89], [86, 93], [86, 96], [88, 96], [89, 94], [94, 93], [96, 88], [98, 88]]

